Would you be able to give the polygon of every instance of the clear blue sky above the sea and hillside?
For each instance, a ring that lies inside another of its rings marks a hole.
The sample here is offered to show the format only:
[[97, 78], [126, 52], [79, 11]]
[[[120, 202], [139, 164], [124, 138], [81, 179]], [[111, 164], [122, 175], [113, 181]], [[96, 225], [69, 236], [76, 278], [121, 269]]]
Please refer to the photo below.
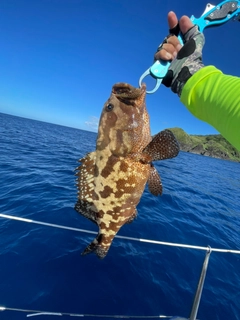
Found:
[[[138, 86], [168, 33], [167, 13], [199, 17], [207, 0], [1, 0], [0, 112], [96, 130], [112, 85]], [[212, 3], [217, 4], [217, 3]], [[203, 62], [240, 75], [239, 22], [205, 30]], [[149, 89], [151, 81], [147, 82]], [[217, 133], [163, 85], [147, 96], [152, 133]]]

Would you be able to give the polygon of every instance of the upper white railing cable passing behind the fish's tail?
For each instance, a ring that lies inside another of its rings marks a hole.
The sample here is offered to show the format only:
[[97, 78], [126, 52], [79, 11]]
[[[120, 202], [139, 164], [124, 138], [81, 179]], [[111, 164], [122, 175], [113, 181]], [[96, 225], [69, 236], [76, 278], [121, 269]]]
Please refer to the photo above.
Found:
[[[97, 234], [97, 232], [95, 232], [95, 231], [90, 231], [90, 230], [86, 230], [86, 229], [79, 229], [79, 228], [74, 228], [74, 227], [68, 227], [68, 226], [63, 226], [63, 225], [59, 225], [59, 224], [48, 223], [48, 222], [32, 220], [32, 219], [27, 219], [27, 218], [21, 218], [21, 217], [7, 215], [7, 214], [3, 214], [3, 213], [0, 213], [0, 218], [10, 219], [10, 220], [17, 220], [17, 221], [21, 221], [21, 222], [33, 223], [33, 224], [38, 224], [38, 225], [42, 225], [42, 226], [46, 226], [46, 227], [65, 229], [65, 230], [76, 231], [76, 232]], [[127, 236], [120, 236], [120, 235], [116, 235], [115, 238], [123, 239], [123, 240], [129, 240], [129, 241], [145, 242], [145, 243], [151, 243], [151, 244], [157, 244], [157, 245], [165, 245], [165, 246], [171, 246], [171, 247], [203, 250], [203, 251], [207, 251], [208, 248], [209, 248], [208, 246], [206, 246], [206, 247], [204, 247], [204, 246], [195, 246], [195, 245], [189, 245], [189, 244], [165, 242], [165, 241], [150, 240], [150, 239], [143, 239], [143, 238], [133, 238], [133, 237], [127, 237]], [[211, 248], [211, 251], [212, 252], [223, 252], [223, 253], [240, 254], [240, 250], [232, 250], [232, 249]]]

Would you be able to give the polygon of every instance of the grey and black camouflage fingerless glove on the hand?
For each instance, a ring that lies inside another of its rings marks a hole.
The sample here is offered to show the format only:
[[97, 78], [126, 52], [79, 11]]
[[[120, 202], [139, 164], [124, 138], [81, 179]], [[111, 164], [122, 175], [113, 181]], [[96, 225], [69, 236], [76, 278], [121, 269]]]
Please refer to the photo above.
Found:
[[[171, 31], [171, 30], [170, 30]], [[171, 36], [171, 35], [170, 35]], [[184, 46], [178, 52], [177, 57], [172, 61], [162, 83], [166, 87], [171, 87], [174, 93], [181, 96], [183, 86], [188, 79], [199, 69], [204, 67], [202, 63], [202, 48], [204, 46], [204, 35], [198, 30], [197, 26], [192, 27], [183, 36]], [[162, 49], [167, 38], [159, 46]]]

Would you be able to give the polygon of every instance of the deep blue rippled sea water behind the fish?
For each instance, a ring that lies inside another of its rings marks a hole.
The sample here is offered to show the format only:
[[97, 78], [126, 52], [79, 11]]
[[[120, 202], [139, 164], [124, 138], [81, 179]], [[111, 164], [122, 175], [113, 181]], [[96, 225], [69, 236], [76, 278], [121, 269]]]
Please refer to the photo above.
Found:
[[[73, 209], [74, 169], [95, 139], [95, 133], [0, 114], [0, 213], [97, 231]], [[137, 219], [120, 235], [240, 250], [239, 163], [180, 152], [155, 166], [162, 197], [146, 188]], [[204, 251], [115, 239], [105, 259], [81, 256], [93, 238], [0, 218], [0, 306], [189, 316]], [[26, 319], [26, 313], [2, 311], [0, 319]], [[240, 319], [240, 255], [212, 252], [198, 319]]]

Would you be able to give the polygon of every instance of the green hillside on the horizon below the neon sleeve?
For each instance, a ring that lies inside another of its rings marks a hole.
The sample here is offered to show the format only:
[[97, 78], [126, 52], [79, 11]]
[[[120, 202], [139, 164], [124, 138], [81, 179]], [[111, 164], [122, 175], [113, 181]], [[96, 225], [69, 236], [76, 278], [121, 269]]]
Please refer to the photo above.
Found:
[[169, 130], [177, 138], [182, 151], [240, 162], [240, 151], [237, 151], [220, 134], [200, 136], [189, 135], [181, 128], [170, 128]]

